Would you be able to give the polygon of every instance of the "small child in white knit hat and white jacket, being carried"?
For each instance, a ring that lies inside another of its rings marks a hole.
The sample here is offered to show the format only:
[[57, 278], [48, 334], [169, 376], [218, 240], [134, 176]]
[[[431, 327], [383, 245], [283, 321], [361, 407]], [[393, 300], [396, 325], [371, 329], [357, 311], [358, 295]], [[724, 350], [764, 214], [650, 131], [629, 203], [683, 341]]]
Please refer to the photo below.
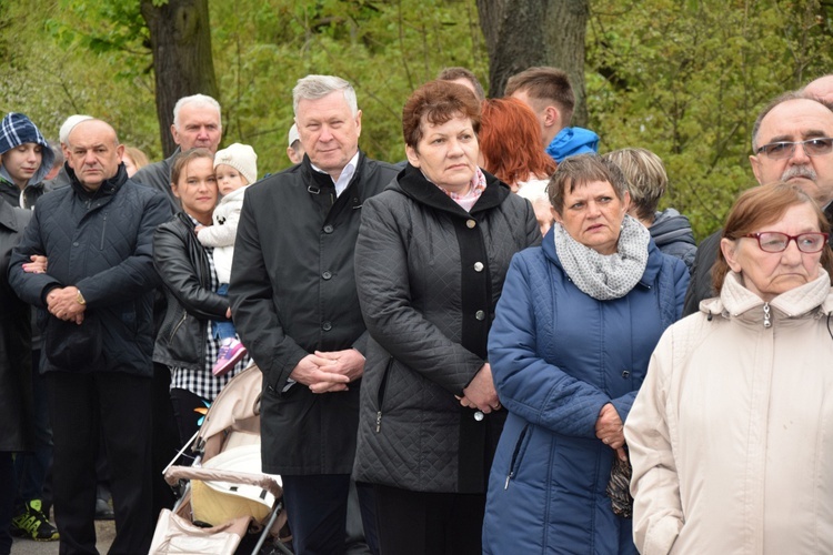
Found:
[[[225, 295], [231, 281], [231, 260], [234, 256], [234, 238], [243, 208], [243, 194], [245, 188], [258, 180], [258, 154], [248, 144], [235, 142], [217, 152], [214, 173], [222, 199], [214, 209], [214, 224], [199, 228], [197, 238], [203, 246], [214, 248], [214, 268], [220, 281], [217, 292]], [[245, 356], [247, 350], [237, 339], [233, 323], [212, 321], [211, 324], [214, 337], [220, 340], [220, 353], [212, 372], [223, 375]]]

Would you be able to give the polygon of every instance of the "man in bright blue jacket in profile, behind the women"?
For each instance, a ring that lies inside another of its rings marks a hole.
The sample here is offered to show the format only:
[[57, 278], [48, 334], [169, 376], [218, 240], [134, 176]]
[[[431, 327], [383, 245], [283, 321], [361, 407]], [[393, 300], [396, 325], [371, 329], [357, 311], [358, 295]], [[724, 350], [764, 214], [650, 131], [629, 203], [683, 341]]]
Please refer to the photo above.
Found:
[[509, 78], [506, 97], [520, 100], [541, 123], [544, 150], [555, 162], [566, 157], [599, 152], [599, 135], [571, 128], [575, 94], [566, 73], [555, 68], [530, 68]]

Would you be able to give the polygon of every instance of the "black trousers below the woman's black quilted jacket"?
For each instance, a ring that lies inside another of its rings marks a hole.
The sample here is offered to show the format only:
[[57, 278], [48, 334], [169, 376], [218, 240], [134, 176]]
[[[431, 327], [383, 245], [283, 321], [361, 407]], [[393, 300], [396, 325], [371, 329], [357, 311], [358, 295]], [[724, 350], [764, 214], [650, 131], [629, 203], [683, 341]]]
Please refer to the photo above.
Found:
[[485, 494], [373, 485], [381, 555], [480, 555]]

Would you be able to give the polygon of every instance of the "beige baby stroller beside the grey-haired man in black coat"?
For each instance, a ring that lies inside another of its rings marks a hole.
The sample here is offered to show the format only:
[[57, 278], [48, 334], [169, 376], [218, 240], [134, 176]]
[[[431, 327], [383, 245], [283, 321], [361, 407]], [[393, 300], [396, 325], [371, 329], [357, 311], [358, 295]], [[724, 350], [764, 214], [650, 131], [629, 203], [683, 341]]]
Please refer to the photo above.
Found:
[[280, 537], [287, 523], [280, 476], [260, 472], [261, 387], [254, 364], [234, 376], [178, 454], [191, 446], [193, 464], [177, 466], [174, 458], [165, 470], [182, 495], [160, 513], [151, 554], [292, 554], [291, 537]]

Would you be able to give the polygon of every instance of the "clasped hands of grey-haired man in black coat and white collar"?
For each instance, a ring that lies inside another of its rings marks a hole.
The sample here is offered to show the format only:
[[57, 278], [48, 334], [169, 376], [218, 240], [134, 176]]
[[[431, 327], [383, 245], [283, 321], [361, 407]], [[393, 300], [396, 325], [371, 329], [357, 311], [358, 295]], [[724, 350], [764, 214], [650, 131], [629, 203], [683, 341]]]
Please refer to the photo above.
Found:
[[289, 375], [312, 393], [348, 391], [348, 384], [364, 373], [364, 356], [355, 349], [315, 351], [298, 363]]

